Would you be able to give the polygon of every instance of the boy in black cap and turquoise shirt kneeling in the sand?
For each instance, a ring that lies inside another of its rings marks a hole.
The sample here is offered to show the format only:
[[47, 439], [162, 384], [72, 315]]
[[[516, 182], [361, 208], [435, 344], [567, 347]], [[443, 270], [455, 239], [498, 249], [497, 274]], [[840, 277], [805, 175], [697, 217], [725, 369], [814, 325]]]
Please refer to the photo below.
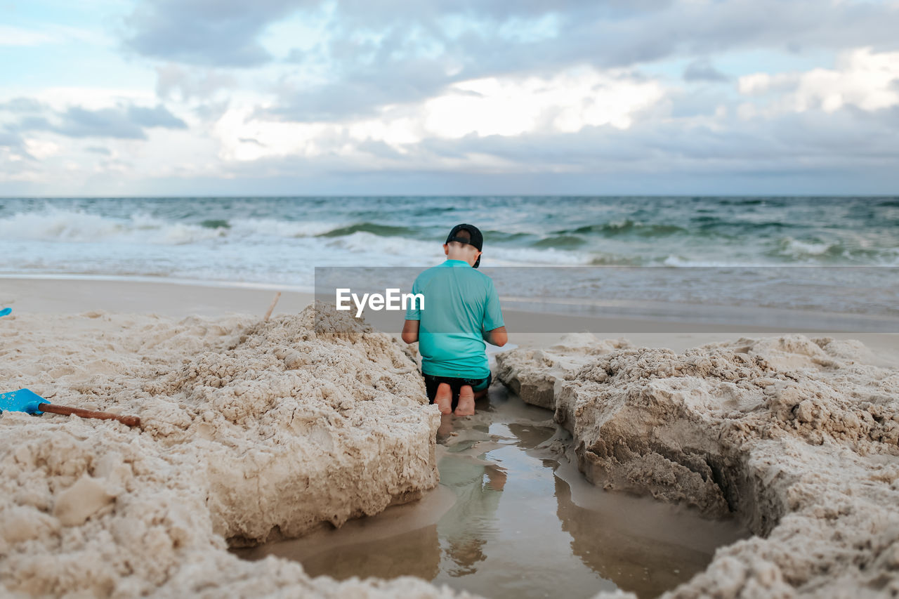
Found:
[[428, 399], [441, 414], [475, 413], [475, 399], [490, 387], [485, 341], [508, 340], [494, 282], [475, 269], [484, 237], [473, 225], [457, 225], [443, 244], [446, 262], [419, 274], [413, 293], [424, 296], [406, 309], [403, 341], [419, 342]]

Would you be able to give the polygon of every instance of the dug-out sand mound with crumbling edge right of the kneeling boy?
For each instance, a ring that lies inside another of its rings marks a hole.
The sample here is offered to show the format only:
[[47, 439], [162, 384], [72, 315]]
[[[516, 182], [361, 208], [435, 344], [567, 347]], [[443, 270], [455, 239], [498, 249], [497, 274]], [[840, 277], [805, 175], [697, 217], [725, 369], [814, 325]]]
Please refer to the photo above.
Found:
[[666, 596], [899, 593], [899, 370], [864, 345], [789, 335], [678, 354], [581, 336], [497, 362], [555, 408], [594, 483], [759, 535]]

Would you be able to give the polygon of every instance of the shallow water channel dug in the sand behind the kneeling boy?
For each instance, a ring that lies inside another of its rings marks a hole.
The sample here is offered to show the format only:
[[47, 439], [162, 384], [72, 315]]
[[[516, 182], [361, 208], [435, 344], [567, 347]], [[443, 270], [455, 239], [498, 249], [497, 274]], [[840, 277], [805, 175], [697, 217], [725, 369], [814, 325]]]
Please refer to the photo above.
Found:
[[645, 497], [594, 487], [552, 412], [494, 385], [475, 416], [443, 416], [441, 484], [421, 501], [307, 536], [235, 550], [297, 559], [311, 576], [421, 577], [486, 597], [654, 597], [748, 536]]

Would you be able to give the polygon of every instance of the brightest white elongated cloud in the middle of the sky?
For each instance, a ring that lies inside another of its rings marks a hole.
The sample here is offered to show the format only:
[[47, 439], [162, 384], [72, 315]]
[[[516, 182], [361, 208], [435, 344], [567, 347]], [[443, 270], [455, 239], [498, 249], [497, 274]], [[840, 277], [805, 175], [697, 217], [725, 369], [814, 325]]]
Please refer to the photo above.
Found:
[[662, 97], [663, 88], [655, 81], [581, 67], [547, 77], [463, 81], [422, 103], [346, 121], [282, 122], [236, 107], [213, 131], [222, 143], [223, 156], [236, 160], [339, 155], [343, 148], [359, 148], [361, 141], [383, 142], [396, 153], [409, 155], [415, 144], [430, 138], [514, 137], [536, 130], [572, 132], [606, 124], [627, 129], [638, 112]]

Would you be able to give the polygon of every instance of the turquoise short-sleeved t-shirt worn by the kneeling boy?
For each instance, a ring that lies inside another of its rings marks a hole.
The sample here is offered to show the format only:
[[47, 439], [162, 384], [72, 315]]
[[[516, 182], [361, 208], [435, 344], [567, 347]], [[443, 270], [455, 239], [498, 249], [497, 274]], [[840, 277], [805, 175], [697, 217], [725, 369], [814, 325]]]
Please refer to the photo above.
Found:
[[441, 377], [484, 379], [490, 374], [484, 331], [503, 326], [493, 280], [464, 260], [447, 260], [419, 274], [413, 293], [424, 308], [410, 302], [406, 320], [419, 320], [418, 351], [422, 371]]

